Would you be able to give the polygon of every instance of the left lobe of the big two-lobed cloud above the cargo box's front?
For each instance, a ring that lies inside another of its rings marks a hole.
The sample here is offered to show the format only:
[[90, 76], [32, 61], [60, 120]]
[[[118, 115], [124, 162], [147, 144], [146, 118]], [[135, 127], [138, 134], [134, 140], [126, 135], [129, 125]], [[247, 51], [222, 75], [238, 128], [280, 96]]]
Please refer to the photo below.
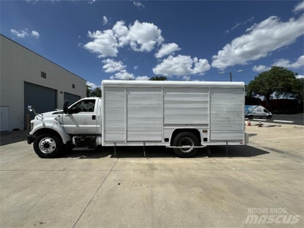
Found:
[[111, 29], [104, 31], [88, 31], [88, 36], [94, 40], [84, 45], [86, 49], [97, 53], [98, 57], [116, 56], [118, 53], [118, 43]]

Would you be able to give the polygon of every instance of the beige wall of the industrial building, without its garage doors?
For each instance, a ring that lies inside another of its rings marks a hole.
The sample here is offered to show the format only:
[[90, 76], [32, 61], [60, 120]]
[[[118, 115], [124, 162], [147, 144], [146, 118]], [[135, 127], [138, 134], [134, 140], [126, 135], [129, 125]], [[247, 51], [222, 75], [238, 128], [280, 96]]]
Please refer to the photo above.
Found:
[[[86, 81], [21, 45], [0, 36], [0, 103], [9, 106], [9, 129], [24, 126], [24, 81], [57, 90], [57, 108], [62, 109], [64, 92], [86, 96]], [[41, 71], [47, 78], [41, 77]], [[75, 88], [72, 88], [75, 84]], [[51, 110], [50, 110], [51, 111]]]

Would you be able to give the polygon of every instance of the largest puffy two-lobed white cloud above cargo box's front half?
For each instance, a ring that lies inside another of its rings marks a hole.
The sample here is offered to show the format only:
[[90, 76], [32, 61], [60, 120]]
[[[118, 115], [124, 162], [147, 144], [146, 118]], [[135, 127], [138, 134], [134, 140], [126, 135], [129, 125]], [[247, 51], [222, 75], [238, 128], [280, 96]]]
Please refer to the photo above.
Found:
[[94, 39], [84, 47], [98, 57], [116, 56], [117, 48], [130, 45], [134, 51], [151, 51], [156, 44], [161, 44], [164, 38], [161, 29], [153, 23], [138, 22], [137, 20], [129, 27], [123, 21], [118, 21], [112, 29], [95, 32], [88, 31], [88, 36]]

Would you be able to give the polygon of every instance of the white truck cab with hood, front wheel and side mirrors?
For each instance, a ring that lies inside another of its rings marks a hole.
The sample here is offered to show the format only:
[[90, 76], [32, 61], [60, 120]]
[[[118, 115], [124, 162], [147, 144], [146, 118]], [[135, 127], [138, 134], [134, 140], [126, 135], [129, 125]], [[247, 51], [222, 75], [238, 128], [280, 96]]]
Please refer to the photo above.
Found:
[[[39, 157], [57, 157], [63, 147], [95, 148], [101, 145], [101, 105], [102, 98], [83, 98], [68, 106], [64, 102], [61, 112], [37, 114], [31, 120], [31, 130], [27, 136], [29, 144]], [[46, 115], [48, 114], [48, 115]]]

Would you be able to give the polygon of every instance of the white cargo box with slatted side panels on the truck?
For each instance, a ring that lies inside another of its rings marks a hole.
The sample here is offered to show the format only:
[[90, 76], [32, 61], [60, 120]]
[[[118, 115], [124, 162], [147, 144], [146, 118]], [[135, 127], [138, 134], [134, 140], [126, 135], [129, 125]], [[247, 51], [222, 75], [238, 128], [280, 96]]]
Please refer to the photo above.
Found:
[[102, 145], [170, 145], [183, 128], [202, 145], [244, 144], [244, 98], [244, 82], [104, 80]]

